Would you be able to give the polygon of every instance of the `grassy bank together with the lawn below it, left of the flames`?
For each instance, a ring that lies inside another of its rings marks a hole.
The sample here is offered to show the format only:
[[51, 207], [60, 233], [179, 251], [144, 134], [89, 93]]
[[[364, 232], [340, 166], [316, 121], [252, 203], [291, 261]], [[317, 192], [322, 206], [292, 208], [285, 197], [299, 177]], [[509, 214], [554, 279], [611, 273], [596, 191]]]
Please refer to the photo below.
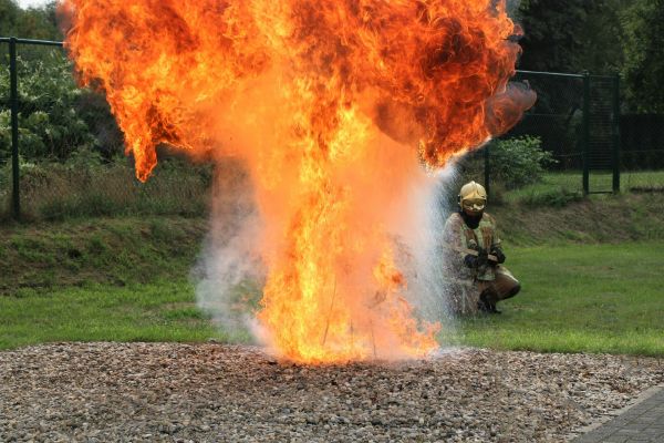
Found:
[[224, 340], [195, 306], [200, 218], [0, 229], [0, 349], [44, 341]]

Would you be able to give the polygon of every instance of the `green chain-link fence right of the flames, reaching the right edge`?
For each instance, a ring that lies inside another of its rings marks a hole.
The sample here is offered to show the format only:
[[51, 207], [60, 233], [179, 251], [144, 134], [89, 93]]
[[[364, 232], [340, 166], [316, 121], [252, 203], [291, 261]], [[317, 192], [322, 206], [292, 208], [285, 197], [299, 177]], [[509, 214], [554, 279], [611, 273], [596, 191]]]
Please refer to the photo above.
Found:
[[[547, 184], [583, 194], [664, 189], [664, 115], [621, 115], [618, 75], [518, 71], [516, 80], [538, 101], [500, 140], [538, 137], [556, 161]], [[485, 164], [491, 185], [497, 165]]]

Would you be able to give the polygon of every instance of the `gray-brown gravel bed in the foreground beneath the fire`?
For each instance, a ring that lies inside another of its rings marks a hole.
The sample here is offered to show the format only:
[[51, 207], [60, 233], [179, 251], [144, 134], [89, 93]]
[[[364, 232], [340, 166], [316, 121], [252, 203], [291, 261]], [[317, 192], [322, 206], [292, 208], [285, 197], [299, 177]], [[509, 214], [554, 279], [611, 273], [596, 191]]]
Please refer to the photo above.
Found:
[[561, 442], [664, 382], [664, 362], [458, 349], [307, 367], [253, 347], [0, 352], [0, 441]]

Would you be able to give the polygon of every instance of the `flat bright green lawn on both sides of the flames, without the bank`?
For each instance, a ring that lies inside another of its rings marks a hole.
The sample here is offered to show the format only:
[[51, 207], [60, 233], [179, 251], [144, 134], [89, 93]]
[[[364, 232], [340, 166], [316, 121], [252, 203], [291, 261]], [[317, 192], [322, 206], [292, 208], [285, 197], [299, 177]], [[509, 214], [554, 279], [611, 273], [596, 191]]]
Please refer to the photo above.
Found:
[[[444, 343], [664, 356], [664, 243], [508, 248], [521, 293], [500, 316], [446, 323]], [[50, 341], [246, 341], [218, 331], [186, 277], [22, 288], [0, 297], [0, 348]]]

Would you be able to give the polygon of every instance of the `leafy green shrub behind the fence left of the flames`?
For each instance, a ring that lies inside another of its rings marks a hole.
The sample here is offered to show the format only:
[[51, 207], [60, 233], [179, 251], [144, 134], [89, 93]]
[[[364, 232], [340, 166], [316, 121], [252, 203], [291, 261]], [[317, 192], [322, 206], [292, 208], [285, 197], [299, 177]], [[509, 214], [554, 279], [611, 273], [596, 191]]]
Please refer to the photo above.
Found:
[[[37, 60], [17, 59], [21, 155], [65, 161], [83, 148], [111, 157], [123, 140], [104, 97], [80, 89], [60, 51]], [[0, 68], [0, 158], [10, 156], [9, 72]]]

